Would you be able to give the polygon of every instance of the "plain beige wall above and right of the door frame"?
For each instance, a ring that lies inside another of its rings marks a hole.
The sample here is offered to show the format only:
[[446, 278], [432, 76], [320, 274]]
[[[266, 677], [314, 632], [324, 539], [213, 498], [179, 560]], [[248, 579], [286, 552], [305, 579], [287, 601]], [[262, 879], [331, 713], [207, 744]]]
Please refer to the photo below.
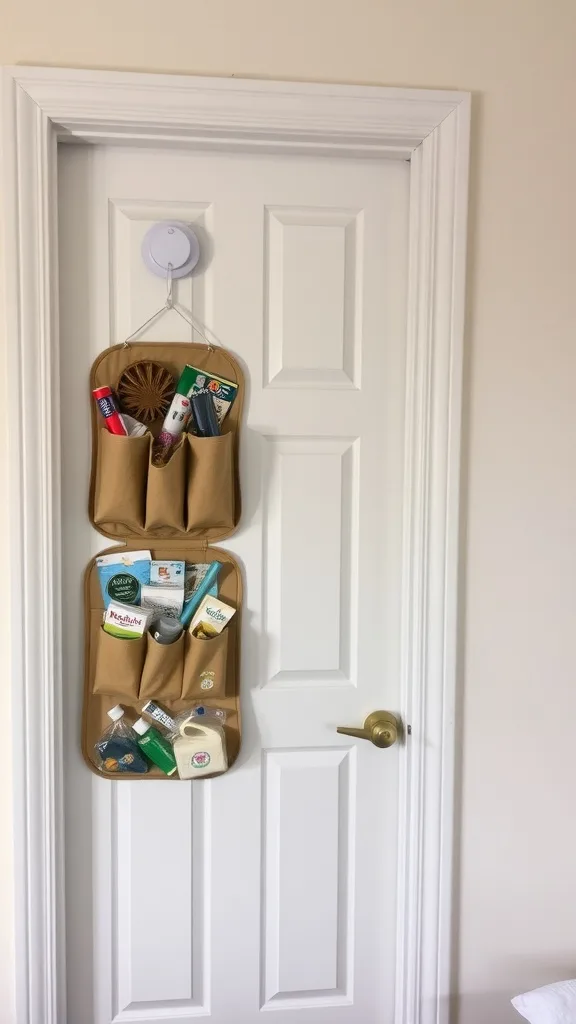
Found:
[[475, 93], [462, 1024], [576, 976], [574, 0], [0, 0], [0, 63]]

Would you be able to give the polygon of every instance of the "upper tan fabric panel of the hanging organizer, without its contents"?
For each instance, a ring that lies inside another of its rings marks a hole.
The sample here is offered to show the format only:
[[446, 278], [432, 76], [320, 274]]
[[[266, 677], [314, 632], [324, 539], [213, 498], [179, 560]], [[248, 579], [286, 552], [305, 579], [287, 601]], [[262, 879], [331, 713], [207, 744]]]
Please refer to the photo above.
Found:
[[236, 359], [222, 348], [171, 342], [130, 343], [108, 348], [95, 360], [90, 390], [115, 390], [133, 362], [159, 362], [177, 381], [189, 364], [207, 375], [238, 385], [238, 392], [216, 437], [182, 434], [165, 465], [153, 462], [153, 442], [162, 417], [140, 437], [109, 432], [95, 401], [92, 408], [92, 468], [90, 521], [112, 540], [162, 538], [202, 539], [208, 543], [230, 537], [240, 520], [238, 472], [244, 376]]

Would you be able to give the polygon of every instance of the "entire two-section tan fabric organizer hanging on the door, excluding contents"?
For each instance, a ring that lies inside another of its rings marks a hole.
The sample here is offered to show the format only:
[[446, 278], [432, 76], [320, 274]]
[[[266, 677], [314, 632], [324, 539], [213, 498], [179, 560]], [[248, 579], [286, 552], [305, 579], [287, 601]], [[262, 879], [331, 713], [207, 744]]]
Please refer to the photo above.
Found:
[[[224, 725], [229, 768], [238, 757], [240, 720], [240, 636], [242, 575], [228, 551], [211, 547], [230, 537], [241, 512], [238, 473], [244, 378], [240, 366], [222, 348], [200, 343], [146, 342], [116, 345], [95, 360], [90, 389], [116, 387], [121, 374], [138, 360], [165, 367], [177, 380], [187, 364], [238, 385], [236, 398], [222, 421], [221, 434], [197, 437], [184, 433], [164, 466], [152, 461], [153, 432], [138, 437], [110, 433], [95, 402], [92, 407], [92, 465], [89, 517], [112, 541], [127, 550], [150, 549], [153, 559], [222, 563], [218, 596], [236, 608], [221, 634], [199, 639], [186, 630], [172, 644], [157, 643], [150, 633], [125, 641], [104, 632], [104, 599], [93, 558], [86, 569], [85, 674], [82, 752], [88, 767], [114, 779], [168, 778], [159, 768], [147, 774], [109, 773], [100, 769], [94, 743], [110, 724], [108, 711], [121, 703], [137, 718], [147, 700], [157, 700], [172, 717], [201, 700], [227, 712]], [[152, 429], [159, 424], [152, 424]], [[157, 431], [156, 431], [157, 432]], [[100, 554], [117, 551], [108, 548]], [[201, 677], [213, 673], [207, 697]], [[170, 776], [174, 778], [176, 776]], [[209, 776], [204, 776], [209, 777]]]

